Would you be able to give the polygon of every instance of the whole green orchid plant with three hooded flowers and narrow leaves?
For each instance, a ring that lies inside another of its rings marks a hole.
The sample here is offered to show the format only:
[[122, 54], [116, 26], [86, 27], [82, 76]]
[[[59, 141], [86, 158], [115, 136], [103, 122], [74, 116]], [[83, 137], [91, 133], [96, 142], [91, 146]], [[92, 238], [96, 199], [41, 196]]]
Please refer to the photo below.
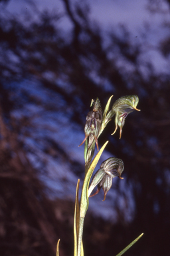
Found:
[[[93, 161], [92, 158], [94, 156], [94, 149], [95, 144], [97, 149], [98, 148], [98, 138], [100, 134], [104, 131], [104, 128], [108, 123], [112, 120], [115, 115], [115, 125], [116, 128], [114, 133], [116, 133], [118, 127], [120, 127], [120, 138], [122, 136], [122, 128], [125, 124], [125, 119], [129, 113], [133, 112], [134, 110], [139, 111], [137, 109], [137, 103], [139, 101], [136, 95], [129, 95], [124, 96], [118, 99], [112, 109], [110, 109], [110, 102], [112, 96], [108, 100], [104, 112], [102, 111], [102, 106], [100, 104], [100, 100], [96, 98], [96, 100], [92, 99], [90, 107], [92, 110], [88, 112], [86, 117], [86, 125], [84, 128], [85, 138], [80, 145], [85, 143], [84, 145], [84, 159], [85, 159], [85, 177], [84, 183], [82, 186], [82, 194], [80, 203], [78, 201], [78, 191], [79, 191], [79, 183], [80, 179], [78, 179], [77, 187], [76, 187], [76, 200], [75, 200], [75, 209], [74, 209], [74, 256], [84, 256], [83, 244], [82, 244], [82, 234], [83, 234], [83, 227], [84, 227], [84, 217], [86, 215], [86, 211], [88, 210], [88, 198], [96, 195], [100, 189], [104, 190], [104, 200], [106, 199], [106, 195], [110, 188], [112, 187], [112, 179], [114, 177], [120, 177], [120, 179], [124, 179], [121, 177], [122, 172], [124, 171], [124, 162], [122, 159], [118, 159], [116, 157], [110, 157], [109, 159], [105, 160], [101, 165], [100, 169], [94, 175], [92, 182], [90, 184], [90, 179], [92, 177], [92, 173], [104, 151], [108, 141], [104, 143], [100, 151], [98, 151], [97, 155], [94, 157]], [[112, 134], [114, 134], [112, 133]], [[97, 191], [91, 195], [92, 191], [95, 187]], [[103, 201], [104, 201], [103, 200]], [[131, 242], [123, 251], [121, 251], [118, 255], [123, 255], [129, 247], [131, 247], [141, 236], [137, 237], [133, 242]], [[56, 256], [59, 256], [59, 250], [57, 243], [56, 247]]]

